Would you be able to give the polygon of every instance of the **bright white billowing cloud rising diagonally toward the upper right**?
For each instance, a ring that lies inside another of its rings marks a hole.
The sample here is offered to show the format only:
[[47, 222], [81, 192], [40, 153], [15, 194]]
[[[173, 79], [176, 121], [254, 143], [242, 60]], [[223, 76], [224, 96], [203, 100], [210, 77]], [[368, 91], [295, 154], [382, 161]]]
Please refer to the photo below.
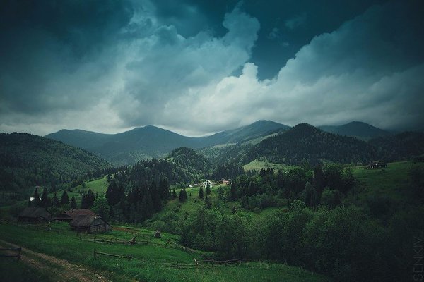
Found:
[[242, 75], [197, 89], [199, 99], [179, 97], [174, 103], [178, 110], [170, 108], [167, 117], [182, 109], [177, 123], [206, 131], [265, 118], [289, 125], [360, 120], [383, 128], [424, 121], [424, 63], [409, 59], [400, 34], [384, 32], [396, 25], [387, 19], [399, 8], [371, 8], [315, 37], [273, 80], [259, 81], [257, 67], [246, 63]]

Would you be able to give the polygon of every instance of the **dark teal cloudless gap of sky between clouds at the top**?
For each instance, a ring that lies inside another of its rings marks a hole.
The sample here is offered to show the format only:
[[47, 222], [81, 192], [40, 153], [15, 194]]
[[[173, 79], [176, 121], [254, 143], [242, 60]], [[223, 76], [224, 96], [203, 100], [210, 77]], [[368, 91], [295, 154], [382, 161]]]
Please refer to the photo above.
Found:
[[[346, 20], [387, 0], [270, 0], [270, 1], [155, 1], [156, 15], [163, 23], [179, 27], [184, 36], [210, 29], [216, 36], [225, 34], [223, 15], [237, 4], [261, 23], [250, 61], [259, 67], [259, 78], [272, 78], [300, 47], [324, 32], [336, 30]], [[197, 11], [196, 16], [191, 11]], [[193, 20], [194, 25], [188, 25]]]

